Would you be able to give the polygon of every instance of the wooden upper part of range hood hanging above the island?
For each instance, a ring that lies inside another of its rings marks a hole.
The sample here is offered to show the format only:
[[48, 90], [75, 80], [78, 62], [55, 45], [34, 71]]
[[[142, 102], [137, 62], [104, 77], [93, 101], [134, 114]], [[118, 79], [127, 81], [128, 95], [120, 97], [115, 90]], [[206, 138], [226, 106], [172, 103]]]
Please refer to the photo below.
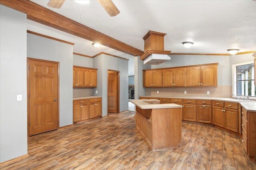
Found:
[[144, 39], [144, 53], [140, 57], [140, 60], [144, 61], [148, 56], [152, 54], [170, 54], [171, 51], [164, 51], [164, 36], [166, 33], [160, 33], [156, 31], [148, 31], [143, 37]]

